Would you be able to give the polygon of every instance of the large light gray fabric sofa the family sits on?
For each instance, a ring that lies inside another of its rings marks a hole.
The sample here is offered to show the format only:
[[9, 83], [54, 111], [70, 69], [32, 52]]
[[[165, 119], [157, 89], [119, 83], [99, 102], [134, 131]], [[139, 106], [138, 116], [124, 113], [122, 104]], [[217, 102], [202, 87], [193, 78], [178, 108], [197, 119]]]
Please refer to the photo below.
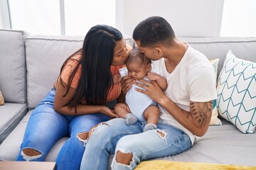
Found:
[[[82, 46], [82, 36], [29, 35], [20, 30], [0, 30], [0, 90], [5, 98], [0, 106], [0, 160], [14, 161], [33, 108], [52, 88], [64, 60]], [[228, 50], [256, 62], [256, 38], [180, 37], [209, 59], [219, 58], [218, 74]], [[127, 43], [134, 41], [127, 37]], [[243, 134], [232, 123], [212, 125], [206, 135], [182, 154], [159, 159], [256, 166], [256, 132]], [[46, 157], [55, 162], [60, 139]], [[110, 156], [110, 161], [112, 155]]]

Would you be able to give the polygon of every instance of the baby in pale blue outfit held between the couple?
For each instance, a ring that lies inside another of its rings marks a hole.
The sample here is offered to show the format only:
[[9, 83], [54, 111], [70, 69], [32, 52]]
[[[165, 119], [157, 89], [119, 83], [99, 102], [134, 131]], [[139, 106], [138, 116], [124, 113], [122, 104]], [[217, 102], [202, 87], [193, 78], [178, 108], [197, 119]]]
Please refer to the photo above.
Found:
[[[125, 64], [126, 67], [119, 69], [121, 77], [129, 75], [129, 77], [133, 77], [139, 83], [142, 83], [139, 79], [156, 81], [162, 90], [167, 88], [166, 79], [152, 69], [151, 60], [145, 57], [144, 53], [140, 52], [139, 48], [134, 48], [129, 52]], [[132, 125], [136, 123], [137, 120], [139, 120], [140, 123], [146, 120], [143, 131], [154, 130], [157, 128], [156, 124], [160, 115], [157, 103], [145, 94], [136, 91], [136, 88], [142, 89], [136, 84], [133, 84], [132, 88], [127, 91], [125, 103], [117, 103], [114, 107], [114, 111], [120, 118], [125, 118], [127, 125]]]

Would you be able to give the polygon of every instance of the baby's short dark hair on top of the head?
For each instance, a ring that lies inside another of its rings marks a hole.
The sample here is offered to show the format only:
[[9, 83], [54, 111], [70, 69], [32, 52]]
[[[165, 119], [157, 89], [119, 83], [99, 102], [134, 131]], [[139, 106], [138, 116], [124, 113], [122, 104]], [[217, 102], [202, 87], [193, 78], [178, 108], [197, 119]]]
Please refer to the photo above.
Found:
[[134, 47], [127, 57], [125, 64], [129, 62], [139, 62], [140, 64], [151, 64], [151, 60], [142, 53], [138, 47]]

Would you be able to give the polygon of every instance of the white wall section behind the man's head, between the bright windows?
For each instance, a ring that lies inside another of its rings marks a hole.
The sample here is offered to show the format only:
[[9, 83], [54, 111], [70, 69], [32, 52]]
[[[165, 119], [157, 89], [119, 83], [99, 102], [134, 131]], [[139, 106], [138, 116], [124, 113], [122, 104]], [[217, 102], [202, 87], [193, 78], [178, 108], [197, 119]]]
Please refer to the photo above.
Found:
[[132, 35], [149, 16], [161, 16], [178, 36], [219, 36], [224, 0], [116, 0], [116, 26]]

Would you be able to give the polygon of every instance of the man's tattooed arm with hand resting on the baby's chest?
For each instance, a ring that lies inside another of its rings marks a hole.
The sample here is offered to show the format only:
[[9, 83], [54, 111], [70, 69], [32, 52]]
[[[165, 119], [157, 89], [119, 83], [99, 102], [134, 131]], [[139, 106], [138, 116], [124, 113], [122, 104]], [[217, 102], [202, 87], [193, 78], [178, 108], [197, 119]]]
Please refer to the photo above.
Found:
[[178, 121], [178, 123], [181, 123], [183, 127], [199, 137], [206, 133], [210, 124], [210, 117], [213, 106], [212, 101], [191, 101], [190, 112], [187, 112], [182, 108], [179, 108], [176, 103], [171, 101], [171, 99], [164, 94], [156, 81], [149, 83], [148, 81], [142, 80], [142, 83], [146, 85], [137, 83], [137, 86], [141, 86], [145, 90], [137, 89], [137, 91], [146, 94], [152, 100], [159, 103]]

